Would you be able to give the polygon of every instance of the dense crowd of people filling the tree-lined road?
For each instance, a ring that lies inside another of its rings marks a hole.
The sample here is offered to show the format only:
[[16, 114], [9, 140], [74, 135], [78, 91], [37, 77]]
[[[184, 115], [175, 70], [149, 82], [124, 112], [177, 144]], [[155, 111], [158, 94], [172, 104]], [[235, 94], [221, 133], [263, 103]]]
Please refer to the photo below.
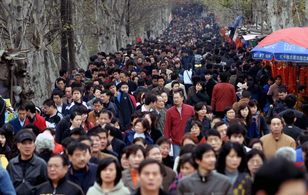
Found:
[[288, 94], [202, 12], [175, 10], [160, 37], [62, 69], [50, 99], [19, 106], [0, 193], [306, 194], [306, 86]]

